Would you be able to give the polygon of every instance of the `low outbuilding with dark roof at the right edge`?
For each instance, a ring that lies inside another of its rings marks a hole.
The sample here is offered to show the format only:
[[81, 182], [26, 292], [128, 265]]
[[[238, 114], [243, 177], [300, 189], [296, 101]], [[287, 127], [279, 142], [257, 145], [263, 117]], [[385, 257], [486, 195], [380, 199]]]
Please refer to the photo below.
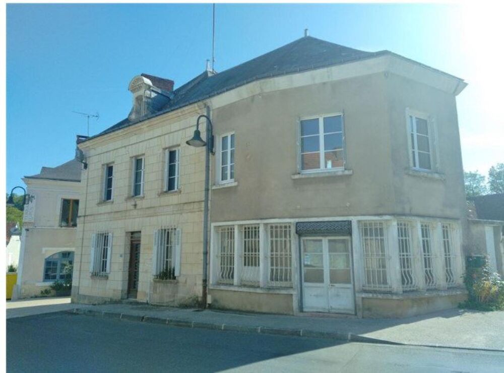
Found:
[[504, 276], [504, 194], [470, 197], [467, 207], [467, 254], [488, 256], [492, 270]]

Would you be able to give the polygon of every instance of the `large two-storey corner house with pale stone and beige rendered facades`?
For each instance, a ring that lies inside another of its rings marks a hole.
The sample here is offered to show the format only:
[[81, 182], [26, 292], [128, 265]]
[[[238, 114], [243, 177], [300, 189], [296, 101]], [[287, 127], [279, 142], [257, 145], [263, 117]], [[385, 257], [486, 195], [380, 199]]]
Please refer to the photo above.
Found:
[[[175, 90], [135, 77], [129, 116], [79, 144], [73, 300], [363, 317], [456, 306], [465, 86], [310, 36]], [[205, 148], [186, 145], [200, 114], [215, 135], [208, 268]]]

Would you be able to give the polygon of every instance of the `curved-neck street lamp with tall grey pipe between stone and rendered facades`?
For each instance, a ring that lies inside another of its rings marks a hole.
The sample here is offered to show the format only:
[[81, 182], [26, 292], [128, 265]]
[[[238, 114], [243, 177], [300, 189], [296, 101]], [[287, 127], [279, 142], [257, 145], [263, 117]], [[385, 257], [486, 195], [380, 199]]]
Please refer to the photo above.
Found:
[[[207, 108], [207, 114], [209, 110]], [[201, 138], [201, 132], [199, 130], [200, 127], [200, 119], [207, 119], [207, 141], [204, 141]], [[214, 135], [213, 135], [213, 126], [210, 118], [201, 114], [198, 116], [196, 120], [196, 130], [194, 131], [193, 138], [191, 140], [187, 140], [185, 142], [187, 145], [194, 146], [196, 148], [201, 148], [202, 146], [206, 146], [207, 149], [205, 151], [205, 204], [203, 207], [203, 276], [202, 276], [202, 285], [203, 285], [203, 294], [202, 300], [203, 304], [207, 306], [207, 288], [208, 288], [208, 274], [207, 274], [207, 256], [208, 256], [208, 201], [209, 201], [209, 191], [210, 188], [208, 186], [210, 179], [210, 153], [214, 154]]]

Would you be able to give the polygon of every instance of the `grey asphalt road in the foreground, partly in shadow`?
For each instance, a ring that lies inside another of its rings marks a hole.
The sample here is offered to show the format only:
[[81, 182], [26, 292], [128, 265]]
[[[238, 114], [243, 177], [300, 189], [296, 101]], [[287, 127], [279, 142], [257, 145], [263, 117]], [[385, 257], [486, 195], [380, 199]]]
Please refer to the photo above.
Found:
[[337, 343], [45, 314], [7, 320], [8, 372], [502, 372], [504, 351]]

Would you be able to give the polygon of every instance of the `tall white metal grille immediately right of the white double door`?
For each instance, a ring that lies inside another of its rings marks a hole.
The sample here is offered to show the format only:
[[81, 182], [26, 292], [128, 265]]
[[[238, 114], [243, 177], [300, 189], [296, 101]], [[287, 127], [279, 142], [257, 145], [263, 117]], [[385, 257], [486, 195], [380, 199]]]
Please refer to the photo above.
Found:
[[364, 286], [366, 290], [388, 291], [386, 227], [383, 222], [360, 223], [362, 252], [364, 253]]

